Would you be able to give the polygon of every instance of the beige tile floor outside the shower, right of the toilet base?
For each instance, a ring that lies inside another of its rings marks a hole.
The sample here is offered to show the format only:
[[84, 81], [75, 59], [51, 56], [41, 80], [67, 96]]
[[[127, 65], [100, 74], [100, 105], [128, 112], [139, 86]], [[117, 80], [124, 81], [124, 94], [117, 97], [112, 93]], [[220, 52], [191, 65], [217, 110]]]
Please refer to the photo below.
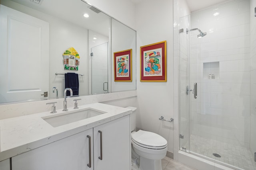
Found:
[[162, 159], [162, 168], [163, 170], [195, 170], [167, 156]]

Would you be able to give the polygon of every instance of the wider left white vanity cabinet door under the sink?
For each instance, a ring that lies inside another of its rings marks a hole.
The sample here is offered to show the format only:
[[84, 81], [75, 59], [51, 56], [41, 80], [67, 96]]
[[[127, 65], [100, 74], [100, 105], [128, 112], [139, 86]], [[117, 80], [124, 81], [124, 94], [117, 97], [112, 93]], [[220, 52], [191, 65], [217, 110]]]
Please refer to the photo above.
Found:
[[[89, 163], [92, 129], [12, 157], [12, 170], [93, 170]], [[93, 140], [91, 142], [91, 149]], [[91, 156], [93, 156], [91, 152]], [[91, 157], [92, 158], [92, 157]], [[92, 159], [93, 161], [93, 159]]]

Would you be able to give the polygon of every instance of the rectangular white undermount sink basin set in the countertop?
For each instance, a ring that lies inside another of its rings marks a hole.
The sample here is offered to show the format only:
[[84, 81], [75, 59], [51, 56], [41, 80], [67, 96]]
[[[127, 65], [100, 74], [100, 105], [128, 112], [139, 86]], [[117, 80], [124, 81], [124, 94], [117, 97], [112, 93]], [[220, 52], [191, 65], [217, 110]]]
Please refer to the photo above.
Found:
[[80, 111], [72, 111], [70, 113], [50, 115], [50, 116], [42, 117], [42, 119], [44, 119], [44, 121], [52, 125], [52, 127], [58, 127], [58, 126], [66, 125], [68, 123], [80, 121], [82, 119], [88, 119], [90, 117], [101, 115], [103, 113], [107, 113], [107, 112], [92, 109], [92, 108], [86, 108]]

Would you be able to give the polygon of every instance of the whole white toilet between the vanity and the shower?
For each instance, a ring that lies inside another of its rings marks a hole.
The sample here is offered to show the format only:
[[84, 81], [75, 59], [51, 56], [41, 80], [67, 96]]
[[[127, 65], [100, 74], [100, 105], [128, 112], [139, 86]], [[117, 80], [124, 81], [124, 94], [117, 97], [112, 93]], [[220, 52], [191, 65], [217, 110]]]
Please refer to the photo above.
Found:
[[136, 107], [130, 115], [132, 132], [132, 170], [162, 170], [161, 159], [166, 156], [167, 141], [160, 135], [136, 129]]

